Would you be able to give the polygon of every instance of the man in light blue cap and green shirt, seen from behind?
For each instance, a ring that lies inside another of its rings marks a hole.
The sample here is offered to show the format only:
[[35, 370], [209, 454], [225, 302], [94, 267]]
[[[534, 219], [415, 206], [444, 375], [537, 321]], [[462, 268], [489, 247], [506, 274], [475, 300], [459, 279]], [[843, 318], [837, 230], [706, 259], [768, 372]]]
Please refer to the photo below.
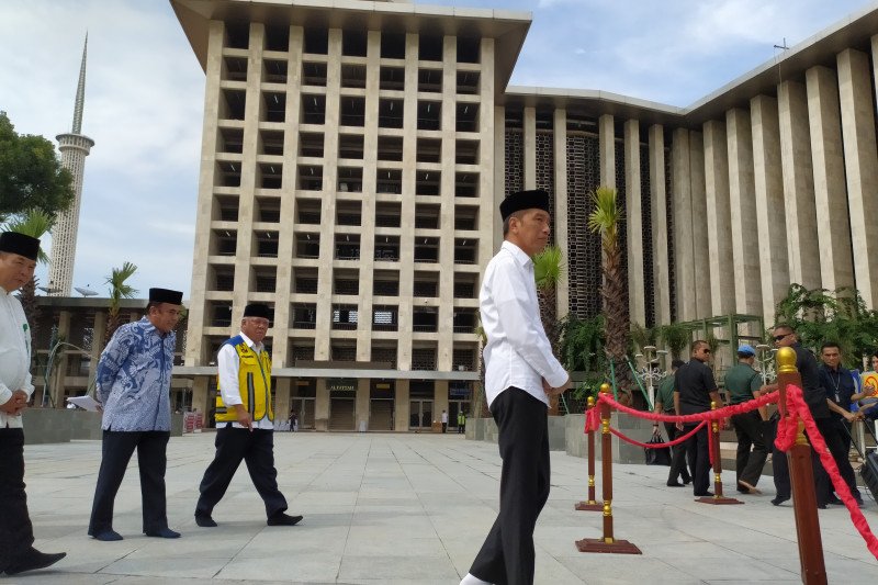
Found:
[[[756, 351], [751, 346], [742, 345], [738, 348], [738, 364], [725, 373], [725, 391], [731, 404], [742, 404], [759, 396], [763, 380], [759, 372], [753, 369], [755, 359]], [[756, 490], [756, 483], [768, 457], [763, 437], [763, 420], [768, 420], [764, 406], [758, 410], [732, 416], [732, 426], [738, 436], [738, 491], [742, 494], [761, 493]]]

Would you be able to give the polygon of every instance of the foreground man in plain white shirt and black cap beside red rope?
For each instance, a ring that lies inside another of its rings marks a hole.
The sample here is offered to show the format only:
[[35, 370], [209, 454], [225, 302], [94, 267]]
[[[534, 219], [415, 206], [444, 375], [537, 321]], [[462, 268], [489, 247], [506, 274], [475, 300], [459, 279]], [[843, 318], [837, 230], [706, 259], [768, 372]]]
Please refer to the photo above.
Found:
[[533, 528], [549, 498], [549, 397], [571, 385], [540, 320], [531, 257], [549, 241], [549, 193], [500, 203], [505, 241], [479, 295], [485, 393], [499, 430], [500, 509], [461, 585], [533, 583]]

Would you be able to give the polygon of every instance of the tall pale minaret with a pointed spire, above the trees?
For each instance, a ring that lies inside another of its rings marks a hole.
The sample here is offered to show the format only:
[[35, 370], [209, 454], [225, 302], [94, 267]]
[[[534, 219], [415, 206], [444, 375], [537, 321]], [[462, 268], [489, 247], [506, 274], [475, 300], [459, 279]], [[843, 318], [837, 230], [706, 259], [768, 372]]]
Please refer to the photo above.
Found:
[[79, 68], [79, 83], [76, 88], [76, 106], [74, 108], [74, 127], [69, 134], [58, 134], [58, 149], [61, 151], [61, 165], [74, 176], [76, 199], [66, 212], [58, 214], [52, 229], [52, 256], [48, 270], [49, 294], [70, 296], [74, 284], [74, 260], [76, 259], [76, 236], [79, 229], [79, 205], [82, 201], [82, 176], [86, 171], [86, 157], [94, 146], [94, 140], [80, 134], [82, 128], [82, 106], [86, 101], [86, 54], [89, 47], [89, 35], [82, 47], [82, 65]]

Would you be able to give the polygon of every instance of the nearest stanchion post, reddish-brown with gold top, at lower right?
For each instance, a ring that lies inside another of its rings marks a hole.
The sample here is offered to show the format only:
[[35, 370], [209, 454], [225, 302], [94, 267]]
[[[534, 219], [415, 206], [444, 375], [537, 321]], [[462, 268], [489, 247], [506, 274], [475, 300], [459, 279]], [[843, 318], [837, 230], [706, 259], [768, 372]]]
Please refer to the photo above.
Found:
[[[787, 410], [787, 385], [802, 387], [802, 378], [796, 369], [796, 351], [785, 347], [777, 352], [777, 387], [780, 421], [791, 415]], [[811, 446], [804, 437], [804, 421], [799, 419], [796, 442], [787, 451], [789, 479], [792, 485], [792, 508], [796, 516], [796, 532], [799, 537], [799, 565], [802, 583], [824, 585], [826, 565], [823, 561], [823, 541], [820, 537], [820, 520], [817, 515], [814, 494], [814, 470], [811, 463]]]

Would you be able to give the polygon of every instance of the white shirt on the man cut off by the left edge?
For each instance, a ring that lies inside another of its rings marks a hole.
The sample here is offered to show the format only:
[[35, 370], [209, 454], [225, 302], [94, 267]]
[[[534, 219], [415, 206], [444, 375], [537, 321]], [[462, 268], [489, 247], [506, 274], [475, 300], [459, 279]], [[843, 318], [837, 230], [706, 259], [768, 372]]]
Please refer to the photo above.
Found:
[[[31, 383], [31, 328], [21, 302], [0, 286], [0, 404], [23, 390], [27, 397], [34, 392]], [[0, 412], [0, 428], [22, 428], [21, 415]]]

